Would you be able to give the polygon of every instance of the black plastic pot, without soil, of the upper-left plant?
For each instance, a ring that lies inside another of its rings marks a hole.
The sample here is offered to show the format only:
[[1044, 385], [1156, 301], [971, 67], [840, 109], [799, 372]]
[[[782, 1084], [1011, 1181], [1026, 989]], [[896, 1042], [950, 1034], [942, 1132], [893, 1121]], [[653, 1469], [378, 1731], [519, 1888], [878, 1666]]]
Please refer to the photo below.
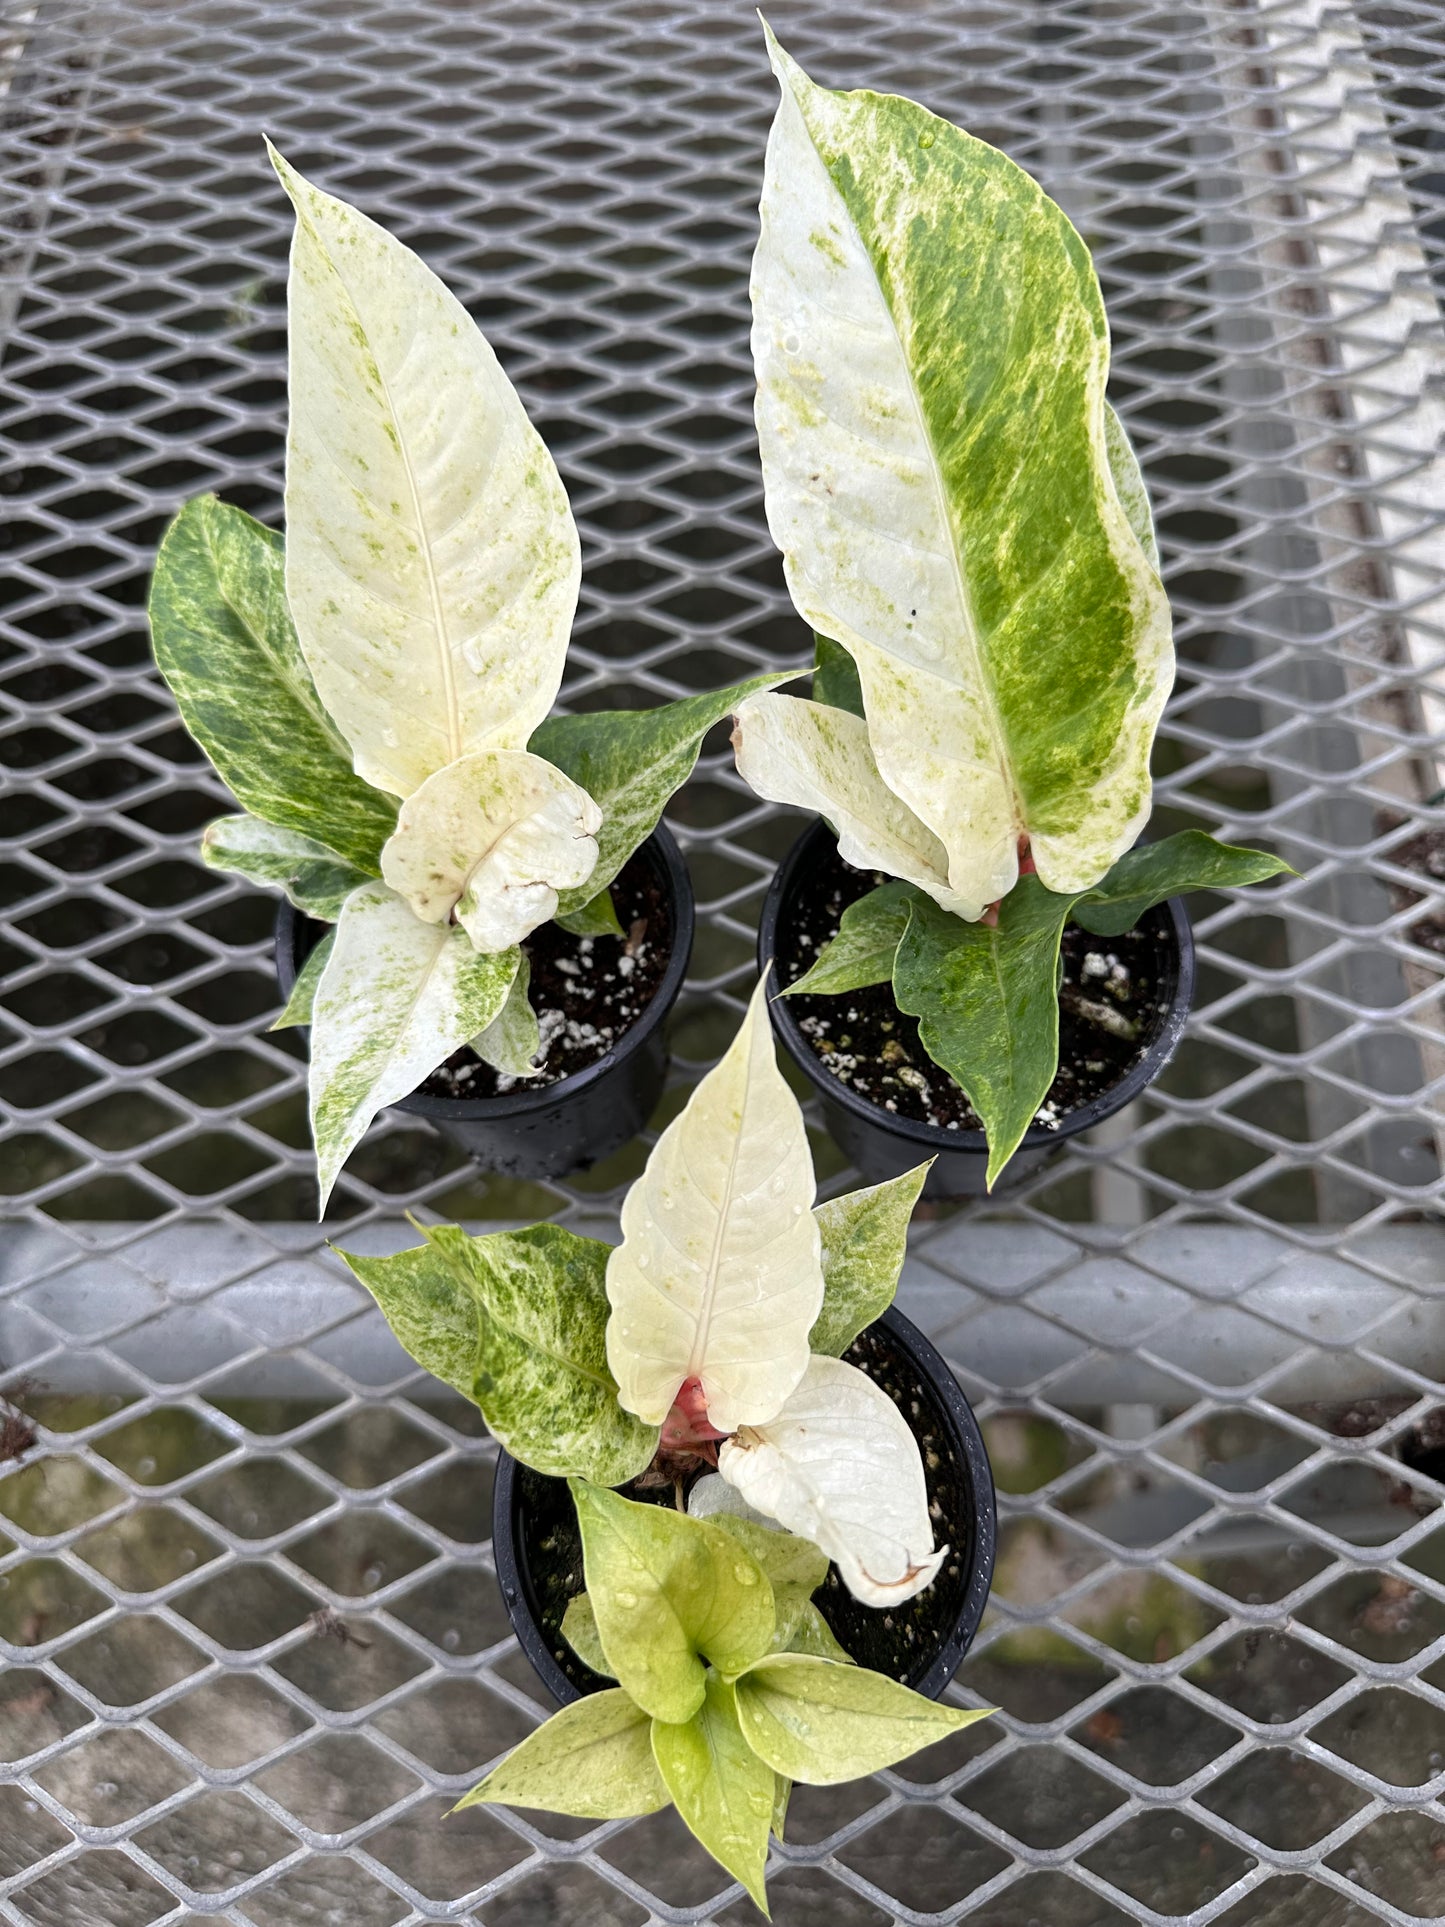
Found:
[[[565, 1177], [609, 1156], [642, 1131], [667, 1081], [665, 1023], [688, 973], [694, 908], [688, 867], [667, 825], [657, 825], [622, 875], [634, 865], [651, 883], [663, 913], [667, 964], [651, 1000], [607, 1054], [557, 1083], [516, 1085], [491, 1096], [443, 1096], [422, 1087], [393, 1110], [430, 1118], [484, 1170], [505, 1177]], [[281, 904], [276, 917], [276, 975], [283, 998], [291, 994], [297, 971], [326, 931], [328, 925], [316, 923], [289, 902]]]

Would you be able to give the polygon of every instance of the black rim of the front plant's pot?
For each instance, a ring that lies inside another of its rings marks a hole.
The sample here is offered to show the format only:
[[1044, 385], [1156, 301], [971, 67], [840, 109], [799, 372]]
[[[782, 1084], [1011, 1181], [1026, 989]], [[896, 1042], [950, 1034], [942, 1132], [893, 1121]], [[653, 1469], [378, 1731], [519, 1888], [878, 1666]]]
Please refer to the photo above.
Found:
[[[919, 1332], [911, 1318], [898, 1310], [896, 1305], [890, 1305], [873, 1322], [884, 1326], [884, 1330], [892, 1333], [902, 1351], [936, 1391], [973, 1501], [973, 1545], [969, 1549], [971, 1563], [967, 1586], [963, 1590], [963, 1603], [948, 1636], [929, 1665], [929, 1671], [913, 1688], [913, 1692], [921, 1692], [925, 1698], [936, 1700], [973, 1644], [973, 1636], [977, 1634], [983, 1619], [983, 1609], [988, 1603], [988, 1586], [994, 1576], [994, 1547], [998, 1540], [994, 1474], [988, 1465], [988, 1451], [983, 1443], [979, 1420], [973, 1416], [973, 1407], [965, 1399], [963, 1387], [942, 1353], [923, 1335], [923, 1332]], [[516, 1634], [522, 1651], [532, 1661], [532, 1669], [555, 1700], [561, 1700], [563, 1705], [570, 1705], [574, 1700], [582, 1698], [582, 1692], [572, 1684], [566, 1673], [563, 1673], [551, 1653], [551, 1648], [547, 1646], [547, 1640], [543, 1638], [536, 1597], [532, 1596], [528, 1576], [524, 1574], [518, 1559], [514, 1515], [520, 1505], [520, 1493], [516, 1470], [516, 1459], [512, 1459], [505, 1445], [499, 1447], [497, 1480], [491, 1497], [491, 1565], [497, 1572], [497, 1584], [501, 1586], [512, 1632]]]

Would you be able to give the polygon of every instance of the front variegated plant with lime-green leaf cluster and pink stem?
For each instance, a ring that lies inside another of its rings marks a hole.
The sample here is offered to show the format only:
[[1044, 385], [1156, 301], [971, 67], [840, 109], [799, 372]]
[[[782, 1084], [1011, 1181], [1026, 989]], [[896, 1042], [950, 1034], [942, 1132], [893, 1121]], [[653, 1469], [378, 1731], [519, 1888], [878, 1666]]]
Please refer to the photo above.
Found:
[[[892, 1301], [925, 1175], [813, 1202], [759, 985], [630, 1189], [620, 1245], [422, 1226], [414, 1251], [343, 1253], [407, 1351], [512, 1457], [570, 1480], [586, 1592], [563, 1636], [617, 1680], [462, 1806], [613, 1819], [672, 1802], [765, 1906], [794, 1781], [873, 1773], [983, 1717], [855, 1667], [813, 1603], [828, 1561], [886, 1611], [948, 1557], [917, 1439], [842, 1357]], [[634, 1482], [665, 1503], [609, 1490]]]

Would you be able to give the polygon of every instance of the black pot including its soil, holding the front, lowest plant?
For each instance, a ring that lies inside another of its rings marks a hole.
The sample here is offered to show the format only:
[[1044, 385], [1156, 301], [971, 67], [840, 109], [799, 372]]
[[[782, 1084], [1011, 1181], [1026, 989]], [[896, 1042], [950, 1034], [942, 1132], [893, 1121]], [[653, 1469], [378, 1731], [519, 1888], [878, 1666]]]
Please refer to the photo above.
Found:
[[[950, 1547], [934, 1582], [904, 1605], [859, 1603], [836, 1567], [813, 1594], [852, 1657], [936, 1700], [979, 1630], [994, 1572], [994, 1482], [979, 1424], [948, 1364], [911, 1320], [888, 1308], [844, 1353], [880, 1386], [919, 1441], [934, 1542]], [[674, 1505], [670, 1486], [628, 1499]], [[563, 1638], [568, 1599], [584, 1592], [582, 1536], [566, 1480], [545, 1478], [509, 1453], [497, 1461], [491, 1555], [522, 1651], [565, 1705], [615, 1684], [584, 1665]]]

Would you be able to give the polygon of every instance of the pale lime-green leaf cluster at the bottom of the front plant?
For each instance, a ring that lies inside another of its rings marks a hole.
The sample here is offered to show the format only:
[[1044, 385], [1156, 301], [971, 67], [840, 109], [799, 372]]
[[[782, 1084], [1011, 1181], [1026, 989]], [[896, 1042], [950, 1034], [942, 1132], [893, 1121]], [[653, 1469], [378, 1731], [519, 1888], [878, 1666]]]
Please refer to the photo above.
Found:
[[936, 1705], [836, 1648], [807, 1650], [790, 1596], [807, 1605], [827, 1561], [798, 1540], [576, 1480], [572, 1493], [588, 1592], [563, 1630], [618, 1684], [555, 1713], [462, 1808], [620, 1819], [670, 1802], [767, 1914], [769, 1836], [782, 1838], [794, 1781], [875, 1773], [986, 1717]]

